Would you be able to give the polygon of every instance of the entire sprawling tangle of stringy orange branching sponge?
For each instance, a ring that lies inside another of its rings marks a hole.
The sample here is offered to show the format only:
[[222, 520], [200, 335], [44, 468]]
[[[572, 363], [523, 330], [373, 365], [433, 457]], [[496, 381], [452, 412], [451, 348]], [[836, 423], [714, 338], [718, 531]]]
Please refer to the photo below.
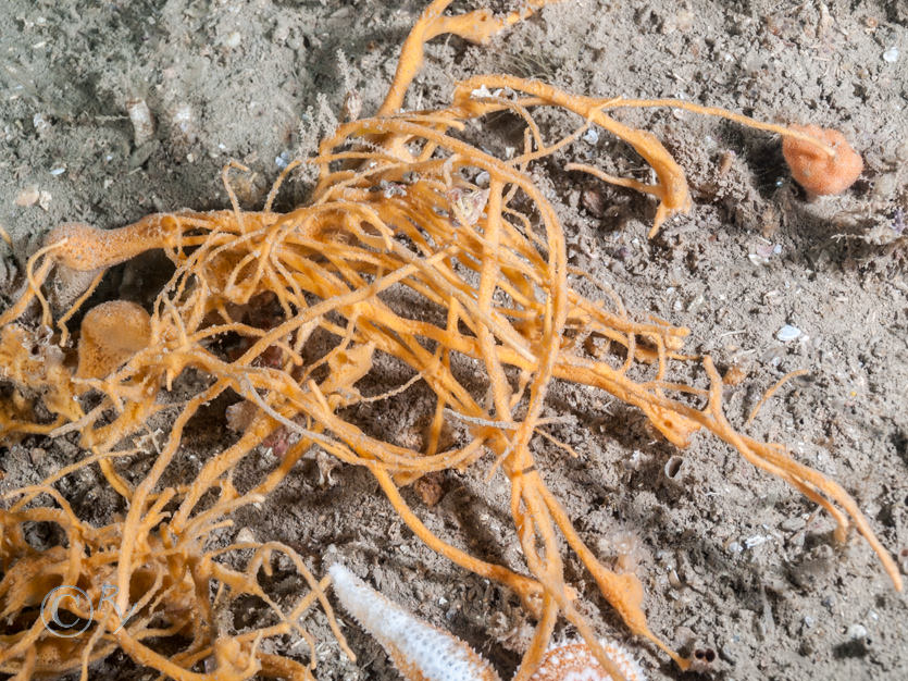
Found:
[[[306, 635], [299, 616], [315, 599], [331, 614], [322, 585], [302, 560], [275, 544], [237, 545], [231, 549], [253, 549], [247, 570], [237, 573], [219, 560], [227, 549], [207, 548], [212, 529], [229, 524], [226, 517], [237, 507], [261, 500], [312, 447], [369, 469], [428, 546], [520, 595], [538, 624], [518, 680], [528, 679], [538, 667], [559, 616], [573, 623], [609, 668], [594, 627], [565, 582], [561, 540], [627, 628], [686, 668], [688, 660], [647, 626], [640, 581], [599, 562], [546, 485], [545, 478], [557, 471], [535, 465], [532, 441], [556, 380], [594, 386], [637, 407], [679, 447], [697, 431], [709, 431], [826, 509], [838, 523], [839, 540], [854, 524], [900, 589], [894, 561], [838, 484], [795, 461], [784, 446], [747, 437], [729, 423], [712, 360], [682, 352], [686, 329], [661, 320], [635, 321], [613, 294], [590, 299], [571, 287], [570, 277], [583, 273], [569, 271], [562, 227], [527, 173], [533, 161], [598, 125], [631, 144], [658, 182], [647, 186], [592, 166], [573, 168], [654, 195], [659, 200], [656, 230], [689, 208], [684, 175], [651, 134], [615, 122], [607, 111], [683, 106], [819, 148], [822, 143], [685, 102], [581, 97], [502, 75], [461, 83], [446, 109], [398, 112], [425, 40], [450, 32], [481, 41], [523, 16], [497, 21], [472, 12], [448, 17], [441, 14], [447, 4], [433, 2], [414, 27], [380, 115], [339, 126], [322, 141], [318, 157], [307, 161], [319, 171], [308, 205], [283, 214], [272, 210], [282, 175], [262, 211], [242, 211], [227, 182], [228, 168], [224, 179], [232, 210], [152, 214], [108, 232], [66, 225], [52, 231], [32, 258], [26, 293], [0, 314], [0, 360], [12, 391], [0, 408], [0, 436], [77, 431], [87, 456], [43, 485], [20, 491], [18, 500], [4, 511], [0, 611], [20, 624], [0, 633], [0, 670], [28, 678], [82, 666], [85, 674], [89, 661], [119, 647], [138, 664], [181, 680], [202, 678], [194, 666], [199, 660], [213, 669], [209, 678], [246, 679], [259, 672], [312, 678], [310, 667], [265, 654], [260, 645], [268, 636]], [[539, 107], [577, 114], [577, 129], [547, 141], [532, 115]], [[525, 122], [524, 148], [515, 158], [496, 158], [460, 138], [468, 122], [498, 112]], [[480, 174], [487, 175], [487, 186], [475, 182]], [[108, 268], [153, 248], [163, 249], [176, 271], [150, 314], [123, 302], [90, 310], [78, 333], [77, 362], [72, 361], [66, 322]], [[66, 275], [88, 274], [91, 281], [57, 318], [41, 289], [54, 268]], [[278, 310], [266, 324], [250, 313], [263, 296]], [[327, 351], [310, 342], [316, 331], [333, 338]], [[605, 339], [609, 349], [590, 355], [584, 343], [589, 337]], [[240, 350], [227, 356], [219, 343], [226, 340]], [[30, 357], [32, 348], [40, 357]], [[383, 380], [375, 369], [382, 357], [406, 364], [410, 379], [385, 394], [363, 395], [358, 387], [363, 377], [373, 379], [372, 384]], [[484, 391], [470, 387], [476, 376], [463, 376], [458, 367], [464, 362], [484, 381]], [[701, 367], [708, 389], [673, 381], [675, 368], [692, 362]], [[203, 387], [175, 403], [167, 397], [188, 370], [204, 377]], [[349, 407], [408, 389], [433, 395], [431, 428], [421, 448], [372, 433], [350, 416]], [[196, 479], [165, 484], [187, 423], [203, 405], [229, 394], [244, 400], [249, 414], [240, 436], [208, 459]], [[124, 467], [136, 451], [136, 437], [163, 411], [176, 414], [173, 426], [150, 471], [133, 484]], [[441, 431], [451, 420], [465, 424], [469, 437], [443, 448]], [[232, 471], [278, 433], [297, 439], [251, 490], [237, 491]], [[95, 465], [127, 504], [124, 518], [101, 529], [79, 521], [53, 487], [63, 475]], [[401, 496], [401, 485], [425, 473], [476, 465], [500, 470], [510, 481], [522, 567], [494, 565], [452, 546], [433, 534]], [[36, 519], [59, 524], [69, 548], [29, 548], [17, 528]], [[274, 606], [279, 623], [258, 632], [214, 627], [209, 589], [215, 585], [227, 602], [247, 593], [273, 605], [256, 574], [278, 550], [293, 559], [308, 595], [289, 611]], [[36, 619], [35, 600], [48, 589], [97, 589], [104, 581], [116, 587], [121, 612], [138, 593], [147, 594], [138, 600], [135, 619], [122, 628], [110, 608], [96, 612], [87, 633], [76, 639], [54, 637]], [[25, 582], [27, 589], [17, 589]], [[154, 647], [162, 635], [179, 635], [186, 647], [167, 658]], [[314, 665], [314, 655], [311, 660]]]

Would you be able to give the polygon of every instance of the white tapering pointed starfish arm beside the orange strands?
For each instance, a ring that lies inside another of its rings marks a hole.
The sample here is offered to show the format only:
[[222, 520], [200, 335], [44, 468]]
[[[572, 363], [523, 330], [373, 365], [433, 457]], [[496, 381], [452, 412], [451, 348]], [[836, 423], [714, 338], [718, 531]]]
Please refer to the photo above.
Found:
[[480, 655], [388, 600], [340, 565], [328, 569], [344, 608], [375, 637], [408, 681], [500, 681]]

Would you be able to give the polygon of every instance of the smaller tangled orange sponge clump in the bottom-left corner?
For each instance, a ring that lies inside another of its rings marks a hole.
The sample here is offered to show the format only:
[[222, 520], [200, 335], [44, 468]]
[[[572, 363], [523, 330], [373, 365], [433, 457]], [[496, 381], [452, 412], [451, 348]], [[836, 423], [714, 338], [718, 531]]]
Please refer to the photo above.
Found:
[[[222, 483], [214, 504], [199, 513], [196, 522], [177, 528], [167, 521], [171, 513], [163, 509], [207, 492], [201, 476], [185, 495], [173, 488], [157, 495], [136, 529], [122, 521], [92, 527], [79, 520], [53, 483], [97, 461], [97, 457], [88, 457], [63, 469], [46, 485], [23, 487], [3, 498], [12, 506], [0, 509], [0, 616], [4, 619], [0, 672], [29, 679], [75, 670], [88, 679], [91, 663], [121, 648], [138, 664], [172, 679], [241, 681], [260, 674], [314, 681], [310, 667], [265, 653], [261, 642], [296, 634], [313, 643], [299, 620], [316, 600], [346, 649], [324, 595], [327, 579], [315, 580], [293, 549], [276, 542], [240, 542], [206, 550], [211, 532], [229, 524], [224, 515], [256, 500], [254, 495], [244, 499]], [[53, 503], [36, 505], [41, 497]], [[26, 538], [35, 523], [53, 525], [65, 536], [65, 545], [37, 550]], [[124, 545], [133, 547], [125, 557], [127, 564], [123, 562]], [[246, 569], [233, 569], [217, 560], [231, 554], [246, 554]], [[302, 595], [293, 607], [278, 607], [262, 585], [278, 555], [301, 575]], [[127, 591], [117, 603], [114, 584], [124, 568]], [[211, 594], [216, 595], [212, 598]], [[272, 614], [273, 623], [236, 635], [219, 631], [216, 615], [229, 611], [237, 598], [244, 599], [244, 608], [258, 599]], [[162, 636], [179, 637], [187, 644], [183, 649], [172, 645], [162, 653], [154, 643]], [[201, 663], [211, 669], [210, 674], [192, 671]]]

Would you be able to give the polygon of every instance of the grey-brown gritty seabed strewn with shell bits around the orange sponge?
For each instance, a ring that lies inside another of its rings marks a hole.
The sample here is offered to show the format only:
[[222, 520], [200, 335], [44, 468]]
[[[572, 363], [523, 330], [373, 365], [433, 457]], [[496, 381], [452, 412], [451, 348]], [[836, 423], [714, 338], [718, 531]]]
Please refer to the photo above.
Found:
[[[260, 207], [282, 164], [311, 151], [325, 112], [339, 111], [349, 89], [364, 113], [377, 108], [422, 7], [4, 2], [0, 225], [13, 246], [0, 251], [3, 304], [24, 259], [61, 222], [114, 227], [153, 211], [227, 207], [220, 170], [229, 159], [252, 169], [237, 191], [244, 206]], [[407, 106], [441, 106], [457, 79], [492, 72], [836, 127], [863, 154], [865, 173], [846, 195], [810, 200], [772, 135], [680, 111], [624, 112], [622, 121], [664, 143], [694, 195], [691, 213], [654, 240], [646, 238], [650, 200], [558, 162], [540, 166], [539, 178], [556, 201], [571, 264], [609, 282], [640, 317], [691, 327], [692, 351], [742, 369], [745, 380], [726, 394], [733, 423], [743, 424], [783, 374], [809, 371], [748, 433], [787, 443], [842, 483], [908, 571], [908, 3], [563, 0], [487, 47], [432, 42]], [[154, 121], [146, 138], [127, 116], [135, 100]], [[551, 139], [570, 129], [559, 117], [540, 121]], [[642, 166], [605, 134], [575, 149], [613, 173], [633, 176]], [[293, 179], [281, 207], [306, 193], [304, 178]], [[105, 284], [109, 295], [147, 300], [160, 264], [149, 256], [121, 268]], [[785, 325], [799, 331], [796, 338], [779, 339]], [[712, 438], [679, 451], [642, 414], [593, 391], [557, 384], [549, 409], [574, 417], [551, 433], [581, 457], [542, 447], [547, 483], [600, 557], [635, 547], [651, 629], [687, 652], [713, 649], [712, 678], [908, 678], [905, 596], [862, 541], [837, 545], [833, 520], [797, 492]], [[406, 400], [372, 413], [418, 438], [411, 417]], [[198, 441], [200, 457], [216, 445]], [[37, 483], [77, 456], [65, 438], [0, 448], [0, 492]], [[668, 479], [666, 463], [676, 456], [681, 468]], [[92, 484], [99, 479], [70, 492], [90, 496]], [[486, 481], [481, 466], [446, 473], [440, 485], [432, 507], [408, 493], [430, 529], [519, 568], [505, 479]], [[328, 556], [358, 566], [387, 596], [471, 642], [505, 678], [528, 643], [532, 622], [517, 599], [428, 550], [363, 470], [326, 474], [300, 463], [260, 509], [237, 515], [237, 528], [294, 546], [316, 573]], [[588, 596], [586, 611], [602, 634], [623, 637], [579, 565], [569, 561], [568, 577]], [[352, 622], [345, 631], [356, 665], [324, 618], [313, 615], [309, 629], [320, 641], [320, 679], [397, 678]], [[650, 679], [685, 678], [651, 646], [626, 643]], [[153, 678], [117, 655], [92, 676]]]

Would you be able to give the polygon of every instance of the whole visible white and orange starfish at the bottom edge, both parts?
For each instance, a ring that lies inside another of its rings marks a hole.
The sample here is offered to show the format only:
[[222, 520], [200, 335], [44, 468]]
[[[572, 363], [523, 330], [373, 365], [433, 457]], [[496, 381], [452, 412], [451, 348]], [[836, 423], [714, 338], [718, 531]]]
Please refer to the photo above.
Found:
[[[414, 617], [340, 565], [328, 569], [334, 593], [346, 610], [375, 637], [407, 681], [501, 681], [467, 643]], [[601, 642], [626, 681], [645, 681], [621, 646]], [[612, 681], [583, 643], [552, 647], [531, 681]]]

